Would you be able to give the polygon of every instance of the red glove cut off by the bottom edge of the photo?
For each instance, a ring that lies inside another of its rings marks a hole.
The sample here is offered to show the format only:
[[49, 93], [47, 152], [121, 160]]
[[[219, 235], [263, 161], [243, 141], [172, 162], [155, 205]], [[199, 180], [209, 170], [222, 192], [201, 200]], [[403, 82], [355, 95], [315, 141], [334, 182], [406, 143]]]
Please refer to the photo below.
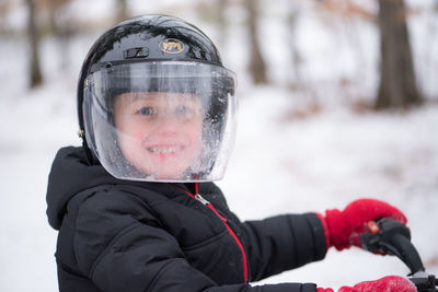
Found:
[[[337, 292], [416, 292], [414, 283], [410, 280], [397, 277], [388, 276], [377, 281], [366, 281], [355, 284], [354, 287], [342, 287]], [[333, 292], [333, 289], [318, 288], [316, 292]]]

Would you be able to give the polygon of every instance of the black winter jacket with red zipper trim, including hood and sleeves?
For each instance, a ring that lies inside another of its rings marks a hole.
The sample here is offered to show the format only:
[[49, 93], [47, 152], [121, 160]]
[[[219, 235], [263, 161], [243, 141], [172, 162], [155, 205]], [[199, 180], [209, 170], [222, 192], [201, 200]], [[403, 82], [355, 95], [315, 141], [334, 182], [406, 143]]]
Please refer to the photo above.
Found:
[[194, 184], [120, 180], [84, 161], [82, 148], [61, 149], [49, 175], [61, 292], [315, 291], [249, 284], [325, 256], [314, 213], [242, 223], [212, 183], [199, 184], [204, 205]]

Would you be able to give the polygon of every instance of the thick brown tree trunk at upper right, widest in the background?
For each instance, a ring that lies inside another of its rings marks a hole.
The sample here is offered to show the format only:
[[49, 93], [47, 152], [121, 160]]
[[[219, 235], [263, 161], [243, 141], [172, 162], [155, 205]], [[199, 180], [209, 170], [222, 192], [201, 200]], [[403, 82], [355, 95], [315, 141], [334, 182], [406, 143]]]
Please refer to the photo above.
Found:
[[374, 107], [406, 107], [420, 104], [403, 0], [379, 0], [381, 42], [380, 86]]

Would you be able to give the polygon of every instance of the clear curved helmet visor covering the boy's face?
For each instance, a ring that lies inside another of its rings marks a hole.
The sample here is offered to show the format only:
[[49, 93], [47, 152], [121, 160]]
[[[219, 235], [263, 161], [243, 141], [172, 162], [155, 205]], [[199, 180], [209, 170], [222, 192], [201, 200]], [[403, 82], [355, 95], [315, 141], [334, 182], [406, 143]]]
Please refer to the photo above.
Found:
[[214, 65], [119, 65], [85, 80], [88, 144], [120, 179], [222, 178], [234, 142], [235, 112], [235, 75]]

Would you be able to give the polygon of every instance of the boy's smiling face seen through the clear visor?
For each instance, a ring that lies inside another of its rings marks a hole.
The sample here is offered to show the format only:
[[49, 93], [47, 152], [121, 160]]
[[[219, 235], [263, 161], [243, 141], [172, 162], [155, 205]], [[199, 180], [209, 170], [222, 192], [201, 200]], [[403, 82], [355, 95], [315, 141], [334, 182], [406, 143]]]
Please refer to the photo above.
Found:
[[115, 127], [124, 156], [159, 179], [178, 178], [201, 148], [198, 96], [185, 93], [124, 93], [114, 103]]

